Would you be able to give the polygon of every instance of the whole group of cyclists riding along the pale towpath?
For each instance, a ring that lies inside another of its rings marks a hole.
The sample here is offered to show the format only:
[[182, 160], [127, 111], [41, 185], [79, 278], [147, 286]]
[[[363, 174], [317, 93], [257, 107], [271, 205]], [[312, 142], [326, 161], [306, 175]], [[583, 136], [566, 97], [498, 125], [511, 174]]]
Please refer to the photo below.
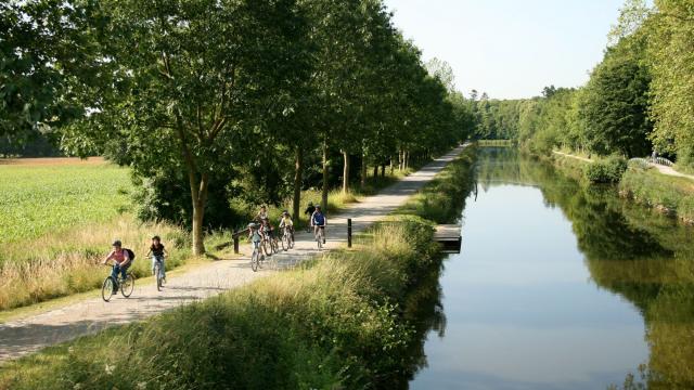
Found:
[[[317, 239], [322, 239], [322, 244], [325, 244], [325, 224], [327, 219], [321, 210], [321, 206], [313, 206], [313, 203], [309, 202], [304, 213], [309, 216], [309, 230], [312, 229], [314, 237]], [[294, 242], [294, 222], [292, 221], [292, 216], [287, 210], [282, 211], [279, 227], [281, 230], [288, 230], [292, 235], [292, 242]], [[248, 237], [255, 248], [257, 248], [264, 239], [275, 238], [274, 226], [270, 223], [268, 208], [266, 206], [261, 206], [255, 221], [248, 223]], [[321, 243], [319, 243], [319, 247], [321, 246], [320, 244]], [[166, 268], [164, 261], [165, 258], [168, 257], [168, 251], [158, 235], [152, 237], [150, 250], [146, 257], [152, 259], [152, 273], [154, 274], [155, 270], [158, 270], [158, 272], [160, 272], [159, 276], [162, 278], [162, 283], [166, 283]], [[103, 260], [103, 264], [108, 265], [108, 261], [113, 261], [110, 277], [113, 281], [112, 285], [114, 294], [118, 289], [118, 281], [126, 280], [128, 269], [132, 265], [133, 260], [134, 252], [132, 250], [125, 248], [119, 239], [113, 242], [112, 250]], [[118, 276], [120, 276], [120, 278]]]

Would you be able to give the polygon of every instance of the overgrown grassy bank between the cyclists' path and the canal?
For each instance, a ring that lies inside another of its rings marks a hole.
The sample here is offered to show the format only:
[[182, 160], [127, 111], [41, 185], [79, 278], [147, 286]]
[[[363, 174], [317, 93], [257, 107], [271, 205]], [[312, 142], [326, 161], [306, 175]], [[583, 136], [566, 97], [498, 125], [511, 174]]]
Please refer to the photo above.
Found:
[[460, 216], [473, 155], [352, 250], [8, 363], [0, 388], [393, 388], [421, 363], [423, 329], [407, 320], [419, 308], [404, 308], [422, 299], [409, 291], [440, 266], [433, 222], [417, 216]]

